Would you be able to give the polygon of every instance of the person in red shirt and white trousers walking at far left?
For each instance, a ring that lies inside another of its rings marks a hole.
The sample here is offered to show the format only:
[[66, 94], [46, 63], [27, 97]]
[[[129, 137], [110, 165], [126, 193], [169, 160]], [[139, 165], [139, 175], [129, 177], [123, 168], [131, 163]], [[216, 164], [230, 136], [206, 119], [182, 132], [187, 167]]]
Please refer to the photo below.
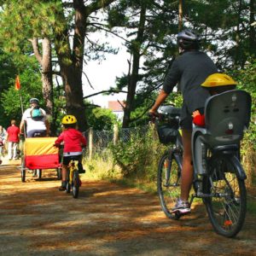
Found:
[[6, 141], [8, 141], [9, 160], [16, 160], [17, 148], [20, 141], [20, 128], [16, 126], [15, 120], [11, 120], [11, 125], [7, 128]]

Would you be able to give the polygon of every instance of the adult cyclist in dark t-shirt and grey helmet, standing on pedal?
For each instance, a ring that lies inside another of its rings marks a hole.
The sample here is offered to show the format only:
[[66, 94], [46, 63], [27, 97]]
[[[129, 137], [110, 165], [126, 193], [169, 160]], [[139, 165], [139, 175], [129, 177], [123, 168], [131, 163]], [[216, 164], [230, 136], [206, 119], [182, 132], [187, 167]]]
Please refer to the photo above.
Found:
[[193, 181], [193, 165], [191, 152], [192, 113], [195, 109], [204, 108], [209, 92], [201, 87], [201, 84], [212, 73], [218, 73], [211, 58], [201, 52], [200, 38], [189, 30], [177, 34], [177, 44], [180, 55], [172, 63], [167, 73], [163, 89], [154, 102], [149, 113], [157, 114], [157, 109], [166, 97], [172, 92], [174, 86], [179, 83], [183, 94], [183, 107], [180, 126], [183, 136], [183, 171], [181, 183], [181, 195], [177, 199], [173, 212], [190, 212], [188, 202], [189, 191]]

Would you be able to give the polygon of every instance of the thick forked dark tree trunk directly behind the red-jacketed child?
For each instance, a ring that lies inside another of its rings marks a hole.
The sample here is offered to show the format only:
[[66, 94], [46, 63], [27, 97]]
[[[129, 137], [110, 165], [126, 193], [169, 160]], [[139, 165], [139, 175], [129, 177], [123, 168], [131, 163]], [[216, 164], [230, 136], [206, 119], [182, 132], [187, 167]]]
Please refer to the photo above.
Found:
[[[72, 51], [67, 29], [63, 32], [55, 32], [55, 49], [61, 68], [67, 113], [76, 116], [80, 131], [85, 131], [87, 128], [82, 87], [84, 38], [87, 29], [87, 19], [91, 13], [107, 7], [114, 1], [116, 0], [98, 0], [85, 6], [83, 0], [73, 0], [75, 17]], [[62, 20], [66, 19], [63, 11], [58, 15], [61, 15]]]

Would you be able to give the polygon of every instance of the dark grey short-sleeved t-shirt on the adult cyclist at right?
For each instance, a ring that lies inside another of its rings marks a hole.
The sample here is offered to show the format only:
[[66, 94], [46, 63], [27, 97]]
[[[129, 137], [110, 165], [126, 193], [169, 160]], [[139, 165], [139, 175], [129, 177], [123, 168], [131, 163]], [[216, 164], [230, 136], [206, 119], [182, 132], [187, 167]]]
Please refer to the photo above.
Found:
[[[211, 58], [201, 51], [187, 51], [179, 55], [172, 63], [172, 67], [166, 76], [163, 90], [171, 93], [173, 87], [179, 82], [183, 94], [183, 108], [187, 114], [195, 109], [204, 108], [209, 92], [201, 87], [201, 84], [212, 73], [218, 73], [217, 67]], [[185, 113], [182, 113], [182, 118]]]

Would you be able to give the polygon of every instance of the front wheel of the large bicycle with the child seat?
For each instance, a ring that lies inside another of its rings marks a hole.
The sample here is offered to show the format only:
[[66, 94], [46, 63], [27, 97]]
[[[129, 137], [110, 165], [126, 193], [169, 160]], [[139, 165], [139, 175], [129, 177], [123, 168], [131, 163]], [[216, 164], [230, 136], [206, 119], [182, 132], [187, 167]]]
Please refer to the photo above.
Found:
[[181, 168], [174, 157], [174, 152], [166, 153], [160, 159], [157, 177], [157, 189], [160, 206], [168, 218], [181, 217], [177, 212], [172, 212], [177, 198], [180, 196]]

